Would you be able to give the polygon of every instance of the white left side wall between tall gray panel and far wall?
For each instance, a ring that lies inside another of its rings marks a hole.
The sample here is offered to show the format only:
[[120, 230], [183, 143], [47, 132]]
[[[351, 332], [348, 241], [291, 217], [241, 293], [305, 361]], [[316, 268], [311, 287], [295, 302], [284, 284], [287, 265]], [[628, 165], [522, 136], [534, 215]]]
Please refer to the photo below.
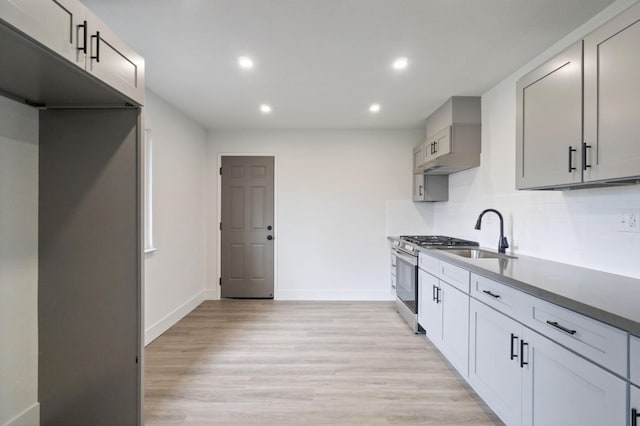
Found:
[[205, 130], [147, 91], [145, 128], [153, 140], [154, 245], [145, 255], [145, 343], [204, 300]]

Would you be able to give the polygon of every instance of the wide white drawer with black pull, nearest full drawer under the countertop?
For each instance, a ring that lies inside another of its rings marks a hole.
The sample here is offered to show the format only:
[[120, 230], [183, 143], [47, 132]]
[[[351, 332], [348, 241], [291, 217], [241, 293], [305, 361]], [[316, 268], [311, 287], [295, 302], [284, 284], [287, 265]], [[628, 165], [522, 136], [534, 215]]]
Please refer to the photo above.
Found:
[[627, 333], [533, 298], [525, 324], [597, 364], [627, 377]]

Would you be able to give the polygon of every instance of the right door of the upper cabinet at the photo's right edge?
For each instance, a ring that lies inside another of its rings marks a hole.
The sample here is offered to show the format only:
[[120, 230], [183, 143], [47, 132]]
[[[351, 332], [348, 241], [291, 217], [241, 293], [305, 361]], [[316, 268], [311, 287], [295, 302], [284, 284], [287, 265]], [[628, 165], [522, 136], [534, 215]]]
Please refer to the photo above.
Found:
[[640, 175], [639, 45], [640, 3], [584, 39], [585, 180]]

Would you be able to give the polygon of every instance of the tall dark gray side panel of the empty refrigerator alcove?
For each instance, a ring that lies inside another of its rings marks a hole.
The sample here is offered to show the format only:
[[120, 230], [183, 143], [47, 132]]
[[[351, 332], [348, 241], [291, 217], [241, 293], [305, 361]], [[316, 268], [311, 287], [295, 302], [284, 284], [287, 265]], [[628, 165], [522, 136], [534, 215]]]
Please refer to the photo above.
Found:
[[139, 424], [139, 114], [40, 112], [42, 425]]

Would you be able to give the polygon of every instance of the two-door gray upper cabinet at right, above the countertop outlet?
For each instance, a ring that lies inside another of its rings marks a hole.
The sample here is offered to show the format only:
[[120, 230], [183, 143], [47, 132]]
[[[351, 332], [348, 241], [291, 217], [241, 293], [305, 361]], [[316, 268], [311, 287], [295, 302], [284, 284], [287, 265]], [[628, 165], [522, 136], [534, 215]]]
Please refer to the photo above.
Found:
[[640, 182], [640, 3], [517, 84], [518, 189]]

